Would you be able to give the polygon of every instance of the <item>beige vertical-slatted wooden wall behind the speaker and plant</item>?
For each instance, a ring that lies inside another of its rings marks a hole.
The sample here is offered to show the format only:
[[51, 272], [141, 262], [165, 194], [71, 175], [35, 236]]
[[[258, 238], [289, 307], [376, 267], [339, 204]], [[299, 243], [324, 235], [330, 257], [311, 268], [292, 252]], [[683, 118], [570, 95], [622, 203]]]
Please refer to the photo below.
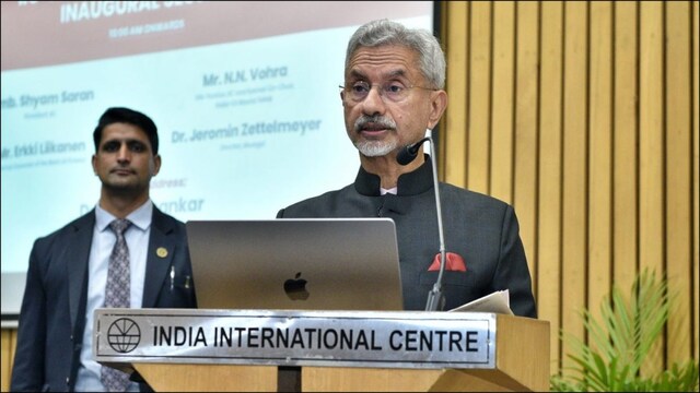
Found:
[[[650, 367], [699, 359], [698, 2], [441, 7], [441, 177], [515, 206], [540, 319], [582, 337], [578, 312], [650, 266], [679, 295]], [[567, 349], [552, 334], [552, 373]]]

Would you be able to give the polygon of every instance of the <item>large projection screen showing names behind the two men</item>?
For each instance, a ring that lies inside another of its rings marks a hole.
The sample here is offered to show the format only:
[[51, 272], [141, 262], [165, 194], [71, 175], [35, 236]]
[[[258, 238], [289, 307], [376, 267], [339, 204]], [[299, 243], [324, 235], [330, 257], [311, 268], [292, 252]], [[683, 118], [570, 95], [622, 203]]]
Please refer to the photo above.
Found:
[[92, 131], [126, 106], [159, 127], [151, 198], [188, 219], [273, 218], [353, 181], [338, 85], [357, 26], [432, 31], [432, 1], [3, 1], [2, 321], [34, 240], [92, 210]]

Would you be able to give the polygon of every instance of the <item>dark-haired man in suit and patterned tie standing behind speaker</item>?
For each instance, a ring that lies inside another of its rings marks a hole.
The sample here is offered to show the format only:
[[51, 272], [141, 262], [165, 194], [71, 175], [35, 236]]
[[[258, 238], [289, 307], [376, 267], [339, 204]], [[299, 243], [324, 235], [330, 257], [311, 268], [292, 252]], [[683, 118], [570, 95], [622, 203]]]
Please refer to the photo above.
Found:
[[185, 225], [150, 199], [151, 178], [161, 168], [155, 123], [139, 111], [109, 108], [93, 139], [100, 201], [34, 243], [12, 391], [148, 388], [93, 360], [93, 311], [197, 307]]

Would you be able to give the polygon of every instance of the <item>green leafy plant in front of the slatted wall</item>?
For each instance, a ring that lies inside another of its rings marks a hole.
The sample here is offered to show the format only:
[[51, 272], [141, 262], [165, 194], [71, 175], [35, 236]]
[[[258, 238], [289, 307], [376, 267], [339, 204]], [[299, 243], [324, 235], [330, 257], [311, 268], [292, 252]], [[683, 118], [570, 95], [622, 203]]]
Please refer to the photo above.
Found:
[[550, 379], [559, 392], [698, 392], [698, 361], [674, 364], [654, 374], [640, 372], [658, 340], [672, 310], [674, 295], [666, 279], [643, 271], [633, 282], [629, 299], [614, 286], [611, 299], [600, 305], [596, 321], [590, 310], [581, 313], [590, 343], [562, 333], [571, 344], [567, 357], [573, 367]]

